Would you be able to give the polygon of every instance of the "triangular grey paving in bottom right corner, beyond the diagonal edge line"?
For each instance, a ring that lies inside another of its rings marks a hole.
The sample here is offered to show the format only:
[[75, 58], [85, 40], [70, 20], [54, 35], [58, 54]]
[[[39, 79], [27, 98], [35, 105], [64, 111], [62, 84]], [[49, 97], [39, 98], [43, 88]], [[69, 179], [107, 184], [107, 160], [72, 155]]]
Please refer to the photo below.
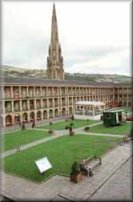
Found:
[[99, 189], [91, 200], [131, 200], [132, 197], [132, 158]]

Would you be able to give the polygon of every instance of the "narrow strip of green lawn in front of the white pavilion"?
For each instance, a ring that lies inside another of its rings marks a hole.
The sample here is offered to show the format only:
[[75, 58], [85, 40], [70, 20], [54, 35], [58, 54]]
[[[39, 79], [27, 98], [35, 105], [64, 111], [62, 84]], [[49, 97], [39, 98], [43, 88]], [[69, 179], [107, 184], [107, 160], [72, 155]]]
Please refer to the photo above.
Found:
[[80, 127], [91, 125], [97, 122], [98, 121], [94, 121], [94, 120], [73, 120], [72, 121], [68, 119], [68, 121], [61, 121], [61, 122], [53, 123], [52, 125], [48, 124], [45, 126], [40, 126], [39, 128], [46, 128], [46, 129], [52, 128], [53, 130], [65, 130], [65, 126], [69, 126], [70, 123], [73, 123], [73, 128], [80, 128]]

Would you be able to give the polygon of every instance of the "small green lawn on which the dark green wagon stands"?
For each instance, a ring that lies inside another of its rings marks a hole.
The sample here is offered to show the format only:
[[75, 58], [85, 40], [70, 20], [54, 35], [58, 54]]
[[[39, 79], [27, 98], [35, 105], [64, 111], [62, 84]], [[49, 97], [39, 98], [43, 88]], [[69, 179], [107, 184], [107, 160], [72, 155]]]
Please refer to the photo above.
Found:
[[128, 135], [130, 133], [130, 130], [131, 130], [131, 122], [126, 122], [121, 126], [113, 126], [113, 127], [105, 127], [103, 124], [100, 124], [91, 127], [89, 132]]

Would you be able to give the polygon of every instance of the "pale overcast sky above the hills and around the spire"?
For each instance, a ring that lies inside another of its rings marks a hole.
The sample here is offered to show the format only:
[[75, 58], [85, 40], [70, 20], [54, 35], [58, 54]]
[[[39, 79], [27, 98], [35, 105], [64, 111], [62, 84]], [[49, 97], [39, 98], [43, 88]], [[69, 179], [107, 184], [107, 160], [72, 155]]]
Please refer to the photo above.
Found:
[[[130, 1], [54, 1], [64, 70], [130, 75]], [[46, 69], [52, 1], [2, 1], [2, 64]]]

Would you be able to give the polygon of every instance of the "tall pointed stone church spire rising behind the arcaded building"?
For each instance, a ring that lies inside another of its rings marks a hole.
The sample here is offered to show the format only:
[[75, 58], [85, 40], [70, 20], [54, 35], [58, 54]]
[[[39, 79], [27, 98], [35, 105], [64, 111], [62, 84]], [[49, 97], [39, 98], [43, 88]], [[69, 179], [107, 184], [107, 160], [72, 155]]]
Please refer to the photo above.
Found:
[[63, 57], [58, 38], [55, 4], [53, 4], [51, 41], [47, 57], [47, 77], [48, 79], [64, 80]]

